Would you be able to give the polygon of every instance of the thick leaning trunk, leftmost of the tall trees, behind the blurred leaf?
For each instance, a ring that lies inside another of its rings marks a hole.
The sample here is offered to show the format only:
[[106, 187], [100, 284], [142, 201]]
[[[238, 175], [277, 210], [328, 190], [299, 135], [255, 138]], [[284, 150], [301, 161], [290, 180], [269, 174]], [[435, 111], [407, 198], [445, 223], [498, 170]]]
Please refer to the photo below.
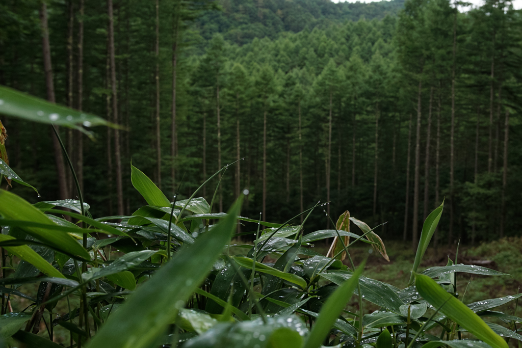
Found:
[[[49, 43], [49, 26], [47, 23], [47, 5], [42, 1], [40, 7], [40, 22], [42, 26], [42, 50], [43, 50], [43, 68], [45, 72], [45, 87], [47, 90], [47, 100], [51, 103], [56, 102], [54, 96], [53, 68], [51, 65], [51, 45]], [[54, 126], [53, 126], [54, 127]], [[59, 131], [56, 127], [56, 131]], [[58, 189], [60, 190], [60, 199], [68, 199], [69, 192], [67, 190], [67, 181], [65, 174], [64, 158], [60, 141], [54, 134], [53, 139], [54, 161], [56, 163], [56, 174], [58, 176]]]

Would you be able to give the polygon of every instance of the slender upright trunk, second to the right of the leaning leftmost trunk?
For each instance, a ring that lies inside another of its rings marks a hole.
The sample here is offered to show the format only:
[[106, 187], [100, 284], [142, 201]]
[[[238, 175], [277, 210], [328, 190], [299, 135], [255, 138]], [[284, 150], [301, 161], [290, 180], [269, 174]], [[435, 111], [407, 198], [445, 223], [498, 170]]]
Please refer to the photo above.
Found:
[[[85, 4], [84, 0], [80, 0], [79, 17], [78, 17], [78, 110], [83, 110], [84, 99], [84, 14]], [[78, 138], [76, 149], [76, 175], [80, 184], [80, 189], [84, 190], [84, 135], [80, 131], [76, 134]]]

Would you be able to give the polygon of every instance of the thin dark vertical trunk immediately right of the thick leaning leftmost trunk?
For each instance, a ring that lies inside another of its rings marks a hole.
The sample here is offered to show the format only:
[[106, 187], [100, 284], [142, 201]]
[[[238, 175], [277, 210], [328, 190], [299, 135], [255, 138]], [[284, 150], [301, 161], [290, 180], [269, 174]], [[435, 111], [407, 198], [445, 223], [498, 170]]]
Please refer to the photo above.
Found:
[[[71, 109], [74, 107], [73, 104], [73, 29], [74, 29], [74, 6], [73, 1], [67, 1], [67, 106]], [[67, 128], [67, 153], [69, 157], [74, 161], [75, 152], [73, 146], [73, 129]], [[75, 189], [73, 189], [73, 173], [69, 171], [67, 173], [67, 191], [73, 195]]]

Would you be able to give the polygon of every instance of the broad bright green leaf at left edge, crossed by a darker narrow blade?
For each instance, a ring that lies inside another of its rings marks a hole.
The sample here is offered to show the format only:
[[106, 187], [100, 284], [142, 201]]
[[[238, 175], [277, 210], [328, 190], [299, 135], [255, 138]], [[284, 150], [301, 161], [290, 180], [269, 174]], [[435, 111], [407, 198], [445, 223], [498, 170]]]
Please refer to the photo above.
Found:
[[[57, 226], [53, 221], [49, 220], [37, 208], [34, 208], [28, 201], [18, 197], [5, 190], [0, 190], [0, 214], [5, 219], [32, 221], [35, 223], [43, 223]], [[39, 239], [41, 242], [49, 243], [56, 249], [64, 250], [69, 254], [79, 256], [84, 259], [90, 259], [89, 253], [85, 250], [72, 236], [67, 233], [56, 233], [49, 229], [41, 229], [39, 227], [21, 227], [25, 232]]]

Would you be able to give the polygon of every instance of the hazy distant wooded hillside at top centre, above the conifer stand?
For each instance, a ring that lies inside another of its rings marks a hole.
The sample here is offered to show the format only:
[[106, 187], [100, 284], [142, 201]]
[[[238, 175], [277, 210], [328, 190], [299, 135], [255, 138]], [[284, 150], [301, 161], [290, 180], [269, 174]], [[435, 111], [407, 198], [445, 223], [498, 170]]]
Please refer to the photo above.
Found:
[[350, 20], [396, 15], [405, 0], [374, 3], [333, 3], [329, 0], [219, 0], [222, 11], [211, 11], [195, 24], [205, 38], [221, 32], [238, 44], [254, 38], [275, 38], [282, 31], [325, 27]]

